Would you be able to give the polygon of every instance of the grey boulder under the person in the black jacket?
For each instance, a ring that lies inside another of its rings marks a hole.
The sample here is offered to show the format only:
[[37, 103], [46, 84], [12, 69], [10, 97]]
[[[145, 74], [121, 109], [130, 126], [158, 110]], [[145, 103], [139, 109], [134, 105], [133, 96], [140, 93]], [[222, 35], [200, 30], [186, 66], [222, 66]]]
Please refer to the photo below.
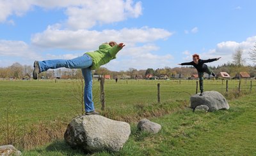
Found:
[[195, 94], [194, 96], [190, 97], [190, 107], [195, 110], [197, 106], [200, 105], [206, 105], [208, 106], [208, 111], [216, 111], [229, 109], [228, 101], [227, 99], [220, 94], [220, 92], [217, 91], [206, 91], [204, 92], [203, 96], [200, 96], [199, 94]]

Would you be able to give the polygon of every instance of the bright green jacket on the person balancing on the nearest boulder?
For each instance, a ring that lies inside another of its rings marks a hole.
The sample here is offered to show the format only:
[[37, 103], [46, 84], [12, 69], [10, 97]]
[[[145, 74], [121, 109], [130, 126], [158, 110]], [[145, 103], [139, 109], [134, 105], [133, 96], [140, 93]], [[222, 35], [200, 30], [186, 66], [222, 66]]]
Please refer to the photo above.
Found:
[[116, 53], [121, 49], [122, 47], [118, 45], [111, 47], [108, 43], [103, 43], [99, 46], [99, 50], [86, 52], [86, 54], [92, 58], [91, 69], [99, 69], [103, 64], [108, 63], [112, 59], [116, 59]]

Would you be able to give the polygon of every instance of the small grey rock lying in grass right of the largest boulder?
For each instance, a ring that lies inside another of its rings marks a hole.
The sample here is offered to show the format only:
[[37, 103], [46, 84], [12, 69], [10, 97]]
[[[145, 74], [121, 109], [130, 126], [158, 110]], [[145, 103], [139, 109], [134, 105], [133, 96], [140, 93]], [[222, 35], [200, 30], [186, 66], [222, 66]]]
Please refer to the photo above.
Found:
[[156, 134], [161, 130], [161, 125], [157, 124], [156, 122], [151, 122], [147, 118], [143, 118], [138, 122], [137, 128], [140, 131], [146, 131]]

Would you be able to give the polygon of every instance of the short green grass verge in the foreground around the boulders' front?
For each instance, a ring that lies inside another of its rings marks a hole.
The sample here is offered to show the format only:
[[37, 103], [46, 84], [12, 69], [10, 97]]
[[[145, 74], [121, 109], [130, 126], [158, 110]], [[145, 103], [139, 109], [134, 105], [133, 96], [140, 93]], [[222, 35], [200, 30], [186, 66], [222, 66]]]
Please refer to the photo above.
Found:
[[[152, 121], [162, 125], [158, 134], [148, 134], [132, 125], [132, 133], [120, 152], [93, 155], [255, 155], [255, 98], [242, 97], [230, 103], [230, 110], [213, 113], [179, 110]], [[84, 155], [63, 140], [24, 155]]]

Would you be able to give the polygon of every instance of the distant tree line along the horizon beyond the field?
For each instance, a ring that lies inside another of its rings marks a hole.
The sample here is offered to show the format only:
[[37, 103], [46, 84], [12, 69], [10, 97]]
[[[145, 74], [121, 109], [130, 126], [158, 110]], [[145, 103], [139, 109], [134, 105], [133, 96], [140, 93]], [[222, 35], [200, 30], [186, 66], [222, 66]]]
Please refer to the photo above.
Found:
[[[227, 62], [221, 66], [210, 66], [216, 74], [221, 71], [227, 72], [230, 76], [234, 77], [237, 73], [245, 71], [250, 74], [251, 77], [256, 76], [256, 66], [245, 65], [246, 60], [243, 57], [243, 49], [237, 48], [236, 52], [232, 55], [232, 62]], [[253, 46], [250, 52], [250, 60], [256, 63], [256, 44]], [[0, 67], [0, 78], [24, 78], [26, 76], [32, 76], [33, 66], [22, 66], [19, 62], [15, 62], [9, 67]], [[109, 71], [106, 67], [100, 67], [96, 71], [93, 71], [94, 75], [111, 75], [111, 78], [124, 78], [124, 79], [136, 79], [145, 78], [147, 74], [159, 77], [161, 74], [167, 74], [172, 78], [175, 74], [182, 74], [184, 77], [190, 77], [192, 74], [197, 74], [194, 67], [163, 67], [158, 69], [135, 69], [129, 68], [127, 71]], [[81, 78], [80, 69], [54, 69], [48, 70], [44, 73], [40, 73], [42, 78]]]

